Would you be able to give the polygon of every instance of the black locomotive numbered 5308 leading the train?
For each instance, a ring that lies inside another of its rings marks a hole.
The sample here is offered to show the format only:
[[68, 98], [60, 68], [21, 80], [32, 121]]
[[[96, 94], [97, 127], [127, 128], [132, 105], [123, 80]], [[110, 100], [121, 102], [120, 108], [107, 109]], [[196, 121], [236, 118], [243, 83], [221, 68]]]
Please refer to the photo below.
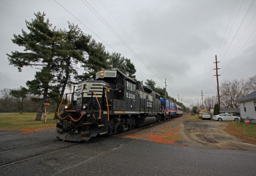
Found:
[[166, 117], [160, 95], [118, 69], [97, 72], [95, 80], [79, 83], [70, 97], [56, 124], [57, 137], [67, 141], [88, 141]]

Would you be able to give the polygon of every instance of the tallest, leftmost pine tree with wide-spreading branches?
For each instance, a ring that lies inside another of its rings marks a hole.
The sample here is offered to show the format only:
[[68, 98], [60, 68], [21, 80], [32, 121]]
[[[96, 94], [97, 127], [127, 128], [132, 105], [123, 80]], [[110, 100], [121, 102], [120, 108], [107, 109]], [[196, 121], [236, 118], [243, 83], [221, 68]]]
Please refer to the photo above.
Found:
[[60, 56], [59, 50], [63, 42], [63, 33], [53, 28], [49, 19], [45, 20], [45, 15], [38, 12], [35, 19], [26, 21], [29, 33], [22, 30], [22, 35], [13, 35], [12, 42], [23, 46], [24, 52], [7, 54], [10, 64], [16, 66], [18, 71], [22, 71], [24, 66], [40, 67], [35, 79], [27, 82], [33, 94], [42, 96], [35, 118], [38, 121], [41, 120], [44, 103], [48, 100], [48, 92], [55, 87], [53, 78], [59, 72], [56, 59]]

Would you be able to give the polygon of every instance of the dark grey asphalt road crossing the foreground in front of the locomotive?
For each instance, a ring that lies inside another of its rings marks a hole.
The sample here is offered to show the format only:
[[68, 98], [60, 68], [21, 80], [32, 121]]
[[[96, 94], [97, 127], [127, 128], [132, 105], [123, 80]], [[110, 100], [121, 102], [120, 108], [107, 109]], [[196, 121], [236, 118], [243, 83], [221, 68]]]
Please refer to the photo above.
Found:
[[[1, 175], [256, 175], [255, 152], [117, 136], [88, 143], [56, 141], [53, 130], [29, 135], [0, 131], [0, 164], [34, 155], [0, 166]], [[47, 142], [55, 143], [40, 145]]]

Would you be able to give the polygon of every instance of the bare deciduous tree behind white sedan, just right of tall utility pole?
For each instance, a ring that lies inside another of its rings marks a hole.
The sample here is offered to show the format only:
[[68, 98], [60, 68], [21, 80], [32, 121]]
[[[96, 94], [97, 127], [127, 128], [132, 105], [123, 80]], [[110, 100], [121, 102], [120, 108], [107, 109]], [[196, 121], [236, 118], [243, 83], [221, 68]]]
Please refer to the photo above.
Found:
[[225, 80], [220, 85], [221, 105], [227, 108], [238, 108], [238, 99], [248, 93], [244, 79]]

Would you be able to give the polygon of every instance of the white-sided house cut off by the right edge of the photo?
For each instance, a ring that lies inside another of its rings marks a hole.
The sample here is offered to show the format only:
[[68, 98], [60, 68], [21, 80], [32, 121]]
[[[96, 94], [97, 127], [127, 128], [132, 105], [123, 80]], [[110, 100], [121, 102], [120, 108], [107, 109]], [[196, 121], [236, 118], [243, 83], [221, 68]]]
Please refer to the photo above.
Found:
[[237, 100], [240, 103], [240, 115], [242, 118], [256, 119], [256, 91]]

